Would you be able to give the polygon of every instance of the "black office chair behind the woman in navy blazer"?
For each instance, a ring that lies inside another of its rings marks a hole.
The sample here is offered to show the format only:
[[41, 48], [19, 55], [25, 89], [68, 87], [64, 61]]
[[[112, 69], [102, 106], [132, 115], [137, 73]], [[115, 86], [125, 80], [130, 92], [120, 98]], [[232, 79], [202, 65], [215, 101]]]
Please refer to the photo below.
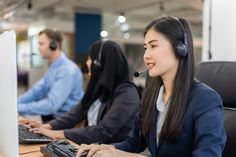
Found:
[[224, 127], [227, 142], [222, 157], [236, 156], [236, 62], [201, 62], [195, 69], [196, 78], [215, 89], [223, 99]]

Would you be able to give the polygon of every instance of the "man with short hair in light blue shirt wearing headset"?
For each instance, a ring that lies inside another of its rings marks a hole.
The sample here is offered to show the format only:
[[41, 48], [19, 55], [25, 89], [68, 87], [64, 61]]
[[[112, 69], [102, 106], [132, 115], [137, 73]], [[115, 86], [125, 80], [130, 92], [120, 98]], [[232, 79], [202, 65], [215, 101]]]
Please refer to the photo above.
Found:
[[62, 34], [45, 29], [39, 33], [39, 51], [49, 69], [29, 91], [18, 98], [22, 115], [52, 115], [69, 111], [81, 100], [83, 77], [77, 65], [62, 51]]

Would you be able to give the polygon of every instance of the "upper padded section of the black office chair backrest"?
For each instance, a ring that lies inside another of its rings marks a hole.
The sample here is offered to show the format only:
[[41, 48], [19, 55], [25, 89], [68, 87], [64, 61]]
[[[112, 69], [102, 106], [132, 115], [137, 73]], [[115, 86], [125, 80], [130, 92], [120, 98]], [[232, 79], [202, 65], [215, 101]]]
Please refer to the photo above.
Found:
[[195, 76], [221, 95], [225, 107], [236, 108], [236, 62], [201, 62]]

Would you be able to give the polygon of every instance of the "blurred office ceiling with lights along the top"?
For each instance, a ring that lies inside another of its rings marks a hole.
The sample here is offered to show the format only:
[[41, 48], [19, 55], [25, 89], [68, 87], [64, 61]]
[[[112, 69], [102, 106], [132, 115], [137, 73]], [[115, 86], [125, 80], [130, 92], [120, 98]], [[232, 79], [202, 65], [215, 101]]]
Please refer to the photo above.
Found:
[[[39, 20], [73, 25], [74, 13], [85, 12], [102, 14], [103, 30], [113, 38], [123, 38], [125, 33], [130, 39], [140, 38], [145, 25], [161, 15], [184, 17], [193, 36], [202, 35], [202, 0], [0, 0], [0, 10], [0, 29], [27, 28]], [[126, 30], [116, 22], [120, 14], [126, 17]]]

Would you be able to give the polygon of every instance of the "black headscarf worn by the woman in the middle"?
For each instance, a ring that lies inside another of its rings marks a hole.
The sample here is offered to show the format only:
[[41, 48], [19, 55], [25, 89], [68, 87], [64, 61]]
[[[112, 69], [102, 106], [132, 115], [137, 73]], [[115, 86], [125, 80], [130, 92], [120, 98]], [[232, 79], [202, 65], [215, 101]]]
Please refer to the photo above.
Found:
[[108, 40], [103, 44], [101, 67], [96, 67], [94, 61], [99, 58], [101, 46], [102, 40], [98, 40], [89, 48], [88, 56], [92, 60], [91, 78], [81, 100], [85, 113], [96, 99], [100, 99], [101, 102], [107, 101], [118, 85], [130, 81], [126, 56], [114, 41]]

